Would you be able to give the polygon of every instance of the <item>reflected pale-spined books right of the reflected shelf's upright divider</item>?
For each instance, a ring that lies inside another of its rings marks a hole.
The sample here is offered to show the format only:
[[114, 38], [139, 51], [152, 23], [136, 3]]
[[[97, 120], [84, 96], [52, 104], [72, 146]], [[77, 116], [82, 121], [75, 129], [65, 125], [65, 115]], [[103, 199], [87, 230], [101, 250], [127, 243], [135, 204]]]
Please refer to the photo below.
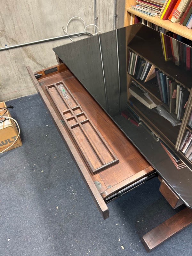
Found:
[[189, 161], [192, 161], [192, 133], [190, 131], [185, 133], [179, 149]]

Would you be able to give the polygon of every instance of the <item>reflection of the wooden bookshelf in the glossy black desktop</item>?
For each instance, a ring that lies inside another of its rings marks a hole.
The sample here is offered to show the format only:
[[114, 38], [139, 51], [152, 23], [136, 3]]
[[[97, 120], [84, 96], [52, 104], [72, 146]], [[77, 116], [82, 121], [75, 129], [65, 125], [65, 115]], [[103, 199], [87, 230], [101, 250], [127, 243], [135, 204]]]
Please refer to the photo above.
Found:
[[[132, 75], [130, 74], [130, 72], [127, 72], [127, 105], [129, 106], [129, 108], [132, 109], [133, 112], [136, 113], [136, 115], [138, 115], [141, 118], [143, 123], [146, 124], [148, 128], [151, 129], [151, 131], [153, 131], [156, 134], [156, 136], [160, 137], [160, 139], [171, 150], [173, 150], [176, 153], [176, 155], [178, 155], [181, 158], [181, 160], [185, 164], [187, 164], [191, 169], [191, 161], [189, 161], [185, 154], [183, 154], [183, 152], [180, 150], [180, 145], [182, 144], [186, 131], [192, 132], [192, 129], [188, 126], [190, 113], [192, 111], [192, 72], [187, 71], [185, 66], [175, 65], [173, 60], [165, 61], [162, 42], [160, 40], [160, 32], [156, 31], [155, 29], [148, 28], [145, 25], [138, 24], [138, 28], [136, 28], [135, 25], [136, 24], [127, 27], [130, 28], [127, 30], [127, 54], [128, 52], [130, 54], [130, 51], [133, 52], [142, 59], [146, 60], [146, 62], [149, 62], [160, 72], [163, 72], [166, 76], [170, 77], [177, 84], [181, 85], [183, 89], [188, 91], [188, 101], [186, 107], [183, 108], [185, 109], [185, 111], [184, 115], [182, 115], [180, 119], [181, 124], [172, 126], [172, 124], [167, 119], [165, 119], [163, 116], [160, 116], [157, 113], [156, 108], [147, 108], [139, 101], [139, 99], [134, 98], [129, 93], [130, 86], [133, 86], [132, 81], [135, 81], [145, 91], [149, 93], [150, 97], [152, 96], [152, 100], [156, 105], [163, 105], [165, 110], [168, 113], [171, 113], [171, 115], [176, 118], [177, 115], [175, 114], [175, 111], [170, 112], [170, 106], [165, 104], [160, 97], [157, 78], [154, 77], [153, 79], [144, 82], [144, 80], [141, 80], [140, 78], [137, 79], [135, 75]], [[135, 33], [136, 36], [132, 36], [132, 31], [135, 30], [137, 30], [137, 32]], [[129, 35], [131, 35], [130, 39]], [[140, 40], [138, 40], [138, 38], [140, 38]], [[131, 62], [129, 62], [128, 59], [127, 68], [130, 65], [130, 63]]]

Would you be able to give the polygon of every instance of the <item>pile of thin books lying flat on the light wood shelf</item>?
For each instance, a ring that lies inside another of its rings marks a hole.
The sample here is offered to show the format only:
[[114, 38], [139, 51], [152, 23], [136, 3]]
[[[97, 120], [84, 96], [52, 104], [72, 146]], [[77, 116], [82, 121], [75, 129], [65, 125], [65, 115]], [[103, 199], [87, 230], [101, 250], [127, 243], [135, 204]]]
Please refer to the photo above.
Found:
[[131, 5], [131, 8], [144, 13], [148, 16], [158, 16], [165, 0], [136, 0], [136, 5]]

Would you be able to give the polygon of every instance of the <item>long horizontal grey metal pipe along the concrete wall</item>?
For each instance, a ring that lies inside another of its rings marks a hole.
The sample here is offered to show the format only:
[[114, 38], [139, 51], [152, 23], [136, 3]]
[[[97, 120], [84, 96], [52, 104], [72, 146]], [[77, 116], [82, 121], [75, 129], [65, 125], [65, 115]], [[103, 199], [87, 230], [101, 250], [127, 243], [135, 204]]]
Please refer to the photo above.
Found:
[[39, 44], [39, 43], [44, 43], [44, 42], [59, 40], [59, 39], [67, 38], [67, 37], [69, 37], [69, 36], [78, 36], [78, 35], [81, 35], [81, 34], [87, 34], [87, 35], [89, 35], [89, 36], [93, 36], [91, 33], [86, 32], [86, 31], [85, 31], [85, 32], [79, 32], [79, 33], [74, 33], [74, 34], [70, 34], [70, 35], [64, 35], [64, 36], [57, 36], [57, 37], [46, 38], [46, 39], [37, 40], [37, 41], [33, 41], [33, 42], [29, 42], [29, 43], [24, 43], [24, 44], [16, 44], [16, 45], [12, 45], [12, 46], [5, 46], [4, 48], [0, 48], [0, 52], [1, 52], [1, 51], [5, 51], [5, 50], [9, 50], [9, 49], [13, 49], [13, 48], [18, 48], [18, 47], [27, 46], [27, 45]]

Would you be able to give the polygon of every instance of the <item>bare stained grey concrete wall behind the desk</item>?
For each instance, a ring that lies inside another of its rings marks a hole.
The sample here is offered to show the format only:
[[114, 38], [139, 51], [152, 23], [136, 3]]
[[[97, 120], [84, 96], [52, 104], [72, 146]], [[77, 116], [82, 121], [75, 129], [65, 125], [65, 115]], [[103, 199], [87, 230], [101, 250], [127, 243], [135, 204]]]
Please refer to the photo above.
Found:
[[[97, 25], [101, 33], [113, 29], [113, 0], [97, 0]], [[116, 27], [123, 27], [124, 0], [117, 1]], [[14, 0], [0, 3], [0, 48], [64, 35], [62, 26], [73, 16], [94, 23], [93, 0]], [[72, 21], [68, 33], [82, 31], [83, 24]], [[89, 31], [94, 33], [94, 28]], [[76, 38], [79, 40], [81, 37]], [[0, 101], [36, 93], [26, 66], [33, 72], [57, 64], [52, 48], [71, 42], [68, 38], [0, 52]]]

